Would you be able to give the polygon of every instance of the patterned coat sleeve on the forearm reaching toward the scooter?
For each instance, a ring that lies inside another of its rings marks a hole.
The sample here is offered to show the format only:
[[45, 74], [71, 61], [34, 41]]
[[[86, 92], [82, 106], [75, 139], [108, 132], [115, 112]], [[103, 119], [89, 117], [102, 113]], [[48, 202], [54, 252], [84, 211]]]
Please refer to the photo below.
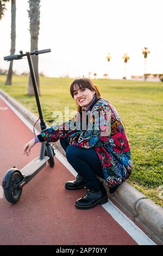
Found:
[[57, 142], [59, 139], [67, 137], [70, 121], [71, 120], [68, 120], [63, 124], [54, 125], [43, 130], [39, 135], [37, 135], [37, 138], [40, 142]]

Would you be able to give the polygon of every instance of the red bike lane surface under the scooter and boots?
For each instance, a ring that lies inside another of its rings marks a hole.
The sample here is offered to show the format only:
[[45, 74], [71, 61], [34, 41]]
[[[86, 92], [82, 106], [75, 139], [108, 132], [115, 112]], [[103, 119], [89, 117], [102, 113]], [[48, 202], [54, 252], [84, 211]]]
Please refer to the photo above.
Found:
[[[33, 132], [12, 112], [0, 97], [0, 185], [5, 172], [18, 169], [39, 156], [40, 144], [32, 154], [23, 155], [23, 147]], [[98, 205], [78, 210], [74, 202], [85, 188], [65, 190], [74, 176], [55, 157], [55, 166], [41, 170], [26, 186], [18, 203], [0, 198], [0, 245], [137, 245], [136, 241]]]

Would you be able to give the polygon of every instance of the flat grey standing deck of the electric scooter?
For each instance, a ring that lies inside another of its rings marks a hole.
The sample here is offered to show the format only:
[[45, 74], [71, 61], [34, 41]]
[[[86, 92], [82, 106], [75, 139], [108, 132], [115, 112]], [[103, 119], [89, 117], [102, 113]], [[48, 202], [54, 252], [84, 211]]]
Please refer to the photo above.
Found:
[[30, 176], [35, 173], [37, 170], [42, 169], [46, 166], [46, 162], [49, 160], [48, 156], [43, 157], [41, 160], [40, 157], [36, 157], [31, 162], [29, 162], [26, 166], [24, 166], [20, 171], [23, 176]]

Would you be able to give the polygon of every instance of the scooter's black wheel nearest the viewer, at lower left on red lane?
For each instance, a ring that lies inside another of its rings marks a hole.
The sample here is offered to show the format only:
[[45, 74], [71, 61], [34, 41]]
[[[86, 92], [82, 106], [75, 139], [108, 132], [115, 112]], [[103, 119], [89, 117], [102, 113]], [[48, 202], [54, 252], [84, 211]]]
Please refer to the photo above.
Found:
[[4, 196], [11, 204], [16, 204], [21, 197], [22, 188], [17, 186], [21, 180], [22, 176], [20, 173], [14, 172], [11, 175], [9, 187], [4, 189]]

